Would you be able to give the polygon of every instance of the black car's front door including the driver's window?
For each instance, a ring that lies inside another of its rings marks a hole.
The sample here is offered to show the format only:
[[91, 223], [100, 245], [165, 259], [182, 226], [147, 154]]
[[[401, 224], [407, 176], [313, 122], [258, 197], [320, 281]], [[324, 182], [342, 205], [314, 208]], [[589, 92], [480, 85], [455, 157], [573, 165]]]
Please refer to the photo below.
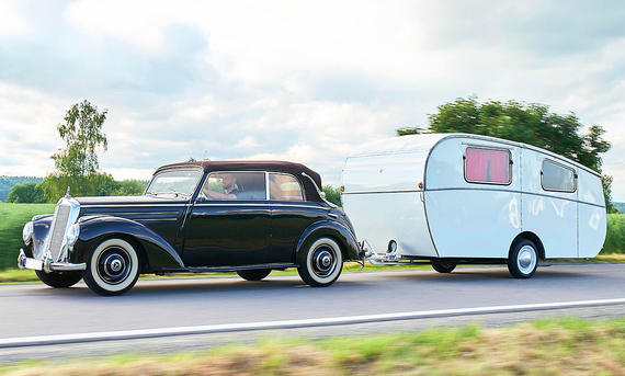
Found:
[[265, 263], [269, 236], [265, 173], [212, 172], [191, 209], [182, 259], [186, 266]]

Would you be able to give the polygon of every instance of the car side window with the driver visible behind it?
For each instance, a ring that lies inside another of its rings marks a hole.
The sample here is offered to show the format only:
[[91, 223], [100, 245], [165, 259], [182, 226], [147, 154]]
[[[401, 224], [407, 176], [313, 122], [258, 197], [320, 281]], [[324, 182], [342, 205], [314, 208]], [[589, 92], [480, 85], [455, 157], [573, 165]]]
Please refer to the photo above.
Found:
[[198, 200], [266, 200], [264, 172], [212, 172]]

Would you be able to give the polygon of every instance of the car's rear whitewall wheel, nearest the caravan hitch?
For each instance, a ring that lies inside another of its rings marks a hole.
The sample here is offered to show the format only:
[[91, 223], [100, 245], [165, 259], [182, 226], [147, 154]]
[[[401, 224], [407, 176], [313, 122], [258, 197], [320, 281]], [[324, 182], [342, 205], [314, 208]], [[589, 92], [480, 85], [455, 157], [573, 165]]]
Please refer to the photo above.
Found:
[[333, 284], [343, 270], [343, 255], [339, 244], [330, 238], [314, 241], [298, 258], [297, 272], [312, 287]]

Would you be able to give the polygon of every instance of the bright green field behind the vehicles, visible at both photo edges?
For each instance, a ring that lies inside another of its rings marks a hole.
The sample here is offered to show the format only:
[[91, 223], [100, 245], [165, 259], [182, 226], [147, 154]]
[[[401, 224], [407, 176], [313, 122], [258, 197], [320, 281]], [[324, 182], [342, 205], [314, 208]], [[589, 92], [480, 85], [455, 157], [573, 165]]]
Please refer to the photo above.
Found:
[[[24, 224], [34, 215], [53, 212], [54, 204], [0, 203], [0, 271], [16, 267]], [[607, 215], [607, 235], [602, 253], [625, 253], [625, 214]]]

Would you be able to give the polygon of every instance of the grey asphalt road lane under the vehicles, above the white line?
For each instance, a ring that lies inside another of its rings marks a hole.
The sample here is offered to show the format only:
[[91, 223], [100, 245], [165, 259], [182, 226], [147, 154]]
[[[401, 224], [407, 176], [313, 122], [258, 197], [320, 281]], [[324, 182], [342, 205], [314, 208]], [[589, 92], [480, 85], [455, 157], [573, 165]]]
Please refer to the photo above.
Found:
[[120, 297], [96, 296], [82, 283], [0, 285], [0, 340], [614, 298], [625, 298], [625, 264], [554, 265], [531, 280], [501, 266], [344, 273], [328, 288], [296, 275], [171, 278], [139, 281]]

